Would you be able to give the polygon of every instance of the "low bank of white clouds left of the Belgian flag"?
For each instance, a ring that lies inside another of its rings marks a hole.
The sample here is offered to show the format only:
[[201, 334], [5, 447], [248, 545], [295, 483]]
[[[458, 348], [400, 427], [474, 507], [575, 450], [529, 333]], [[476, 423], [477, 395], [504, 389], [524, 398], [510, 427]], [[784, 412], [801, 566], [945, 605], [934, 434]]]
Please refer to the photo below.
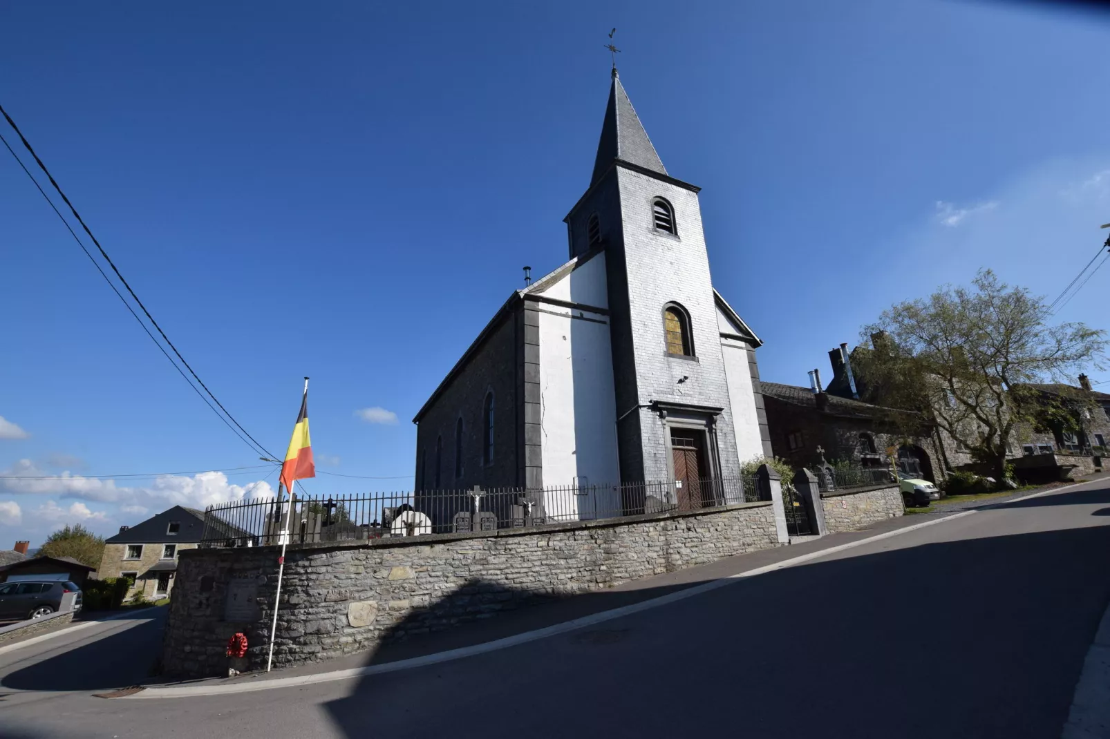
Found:
[[272, 498], [274, 490], [265, 480], [235, 485], [222, 472], [206, 472], [192, 477], [168, 475], [142, 487], [121, 487], [112, 479], [98, 479], [63, 473], [48, 475], [30, 459], [20, 459], [0, 479], [0, 490], [19, 495], [50, 495], [98, 503], [119, 503], [147, 509], [164, 510], [181, 505], [203, 508], [214, 503], [240, 500], [244, 497]]

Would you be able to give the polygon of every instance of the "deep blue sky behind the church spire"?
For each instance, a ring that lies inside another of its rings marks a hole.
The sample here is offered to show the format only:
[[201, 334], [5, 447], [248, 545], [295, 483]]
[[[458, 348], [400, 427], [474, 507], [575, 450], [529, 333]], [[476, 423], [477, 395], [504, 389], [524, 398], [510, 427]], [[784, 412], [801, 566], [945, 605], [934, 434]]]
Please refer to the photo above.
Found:
[[[806, 384], [884, 307], [980, 266], [1053, 297], [1106, 236], [1110, 17], [401, 4], [0, 9], [0, 102], [210, 387], [280, 454], [311, 375], [317, 467], [390, 478], [321, 475], [312, 493], [410, 488], [413, 414], [522, 265], [565, 260], [614, 26], [660, 158], [704, 189], [714, 281], [766, 342], [766, 379]], [[265, 478], [210, 472], [262, 463], [7, 151], [0, 269], [0, 473], [46, 478], [0, 479], [0, 546]], [[1110, 269], [1059, 317], [1107, 326], [1108, 284]], [[204, 474], [84, 477], [159, 472]]]

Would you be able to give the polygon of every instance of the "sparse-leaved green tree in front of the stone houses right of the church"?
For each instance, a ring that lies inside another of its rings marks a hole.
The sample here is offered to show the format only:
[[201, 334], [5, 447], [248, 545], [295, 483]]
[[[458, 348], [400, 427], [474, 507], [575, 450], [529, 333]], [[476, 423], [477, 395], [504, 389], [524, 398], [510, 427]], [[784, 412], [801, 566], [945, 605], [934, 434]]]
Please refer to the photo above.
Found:
[[1029, 384], [1103, 360], [1106, 332], [1050, 318], [1043, 298], [990, 270], [898, 303], [864, 327], [874, 351], [854, 358], [865, 398], [920, 412], [1001, 480], [1016, 431], [1043, 423], [1043, 394]]

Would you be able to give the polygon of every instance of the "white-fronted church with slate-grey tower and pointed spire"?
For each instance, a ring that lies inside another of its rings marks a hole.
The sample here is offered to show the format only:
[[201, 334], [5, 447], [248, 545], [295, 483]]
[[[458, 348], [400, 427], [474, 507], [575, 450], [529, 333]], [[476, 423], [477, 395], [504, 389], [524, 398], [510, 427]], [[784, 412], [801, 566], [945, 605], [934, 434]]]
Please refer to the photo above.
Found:
[[771, 455], [761, 342], [713, 286], [698, 191], [664, 168], [614, 68], [568, 261], [508, 296], [413, 418], [417, 495], [657, 483], [682, 498]]

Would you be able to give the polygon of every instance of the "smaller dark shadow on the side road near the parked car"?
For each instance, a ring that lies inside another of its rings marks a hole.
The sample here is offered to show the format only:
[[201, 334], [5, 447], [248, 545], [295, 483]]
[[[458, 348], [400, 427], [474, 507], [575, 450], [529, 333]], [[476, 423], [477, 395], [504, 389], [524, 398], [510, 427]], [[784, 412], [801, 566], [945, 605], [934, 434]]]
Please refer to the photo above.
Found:
[[12, 671], [0, 679], [0, 686], [16, 690], [100, 690], [145, 680], [161, 652], [165, 622], [164, 608], [151, 614], [143, 614], [151, 620], [134, 626], [124, 619], [115, 621], [118, 626], [107, 636]]

